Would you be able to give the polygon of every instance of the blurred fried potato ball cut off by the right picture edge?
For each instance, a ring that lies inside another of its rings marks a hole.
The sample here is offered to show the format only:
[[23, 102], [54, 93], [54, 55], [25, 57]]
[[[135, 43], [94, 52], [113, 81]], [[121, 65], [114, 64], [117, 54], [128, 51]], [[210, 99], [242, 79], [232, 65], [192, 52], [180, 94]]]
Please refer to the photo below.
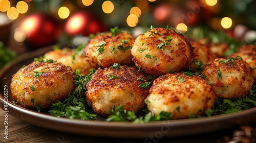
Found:
[[236, 58], [241, 57], [244, 61], [246, 61], [252, 70], [253, 78], [256, 79], [256, 45], [249, 44], [243, 45], [238, 48], [238, 52], [233, 53], [230, 57]]

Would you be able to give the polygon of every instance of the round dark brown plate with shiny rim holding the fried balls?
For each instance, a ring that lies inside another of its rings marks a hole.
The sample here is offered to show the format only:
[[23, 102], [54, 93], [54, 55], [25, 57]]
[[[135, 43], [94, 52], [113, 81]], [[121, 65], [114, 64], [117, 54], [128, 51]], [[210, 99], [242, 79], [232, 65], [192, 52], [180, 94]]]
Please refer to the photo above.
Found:
[[[159, 121], [144, 124], [128, 122], [105, 122], [98, 116], [97, 121], [73, 120], [63, 117], [55, 117], [47, 112], [37, 112], [13, 104], [10, 91], [12, 75], [23, 65], [33, 62], [44, 53], [51, 50], [51, 46], [45, 47], [16, 58], [0, 71], [0, 106], [8, 114], [26, 121], [35, 126], [80, 135], [120, 137], [120, 138], [147, 138], [172, 137], [194, 135], [206, 132], [214, 132], [234, 126], [255, 123], [256, 108], [251, 108], [235, 113], [216, 115], [201, 118], [189, 118], [184, 120]], [[8, 90], [4, 91], [5, 88]], [[8, 102], [5, 97], [8, 94]], [[4, 96], [5, 95], [5, 96]], [[6, 110], [7, 109], [7, 110]]]

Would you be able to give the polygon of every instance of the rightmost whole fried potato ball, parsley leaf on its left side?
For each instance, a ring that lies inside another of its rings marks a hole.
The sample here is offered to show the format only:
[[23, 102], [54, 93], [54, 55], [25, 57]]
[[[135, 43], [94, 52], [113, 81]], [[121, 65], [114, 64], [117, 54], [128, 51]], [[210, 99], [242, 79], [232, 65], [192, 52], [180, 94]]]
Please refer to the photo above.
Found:
[[201, 75], [206, 75], [219, 98], [246, 96], [254, 83], [249, 64], [238, 58], [217, 58], [204, 66]]

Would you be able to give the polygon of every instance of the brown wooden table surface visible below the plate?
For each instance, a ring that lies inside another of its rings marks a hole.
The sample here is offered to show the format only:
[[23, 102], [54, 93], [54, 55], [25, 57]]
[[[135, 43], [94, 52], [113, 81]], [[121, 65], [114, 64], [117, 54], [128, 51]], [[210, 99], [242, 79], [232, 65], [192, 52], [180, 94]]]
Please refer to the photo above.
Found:
[[[217, 142], [225, 135], [231, 135], [238, 127], [226, 129], [218, 132], [199, 134], [194, 136], [182, 136], [161, 138], [159, 140], [127, 139], [127, 138], [102, 138], [95, 136], [81, 136], [69, 133], [62, 133], [49, 129], [44, 129], [16, 117], [8, 115], [8, 139], [4, 138], [5, 130], [5, 112], [0, 108], [0, 142], [54, 142], [54, 143], [72, 143], [72, 142]], [[253, 126], [255, 126], [254, 124]]]

